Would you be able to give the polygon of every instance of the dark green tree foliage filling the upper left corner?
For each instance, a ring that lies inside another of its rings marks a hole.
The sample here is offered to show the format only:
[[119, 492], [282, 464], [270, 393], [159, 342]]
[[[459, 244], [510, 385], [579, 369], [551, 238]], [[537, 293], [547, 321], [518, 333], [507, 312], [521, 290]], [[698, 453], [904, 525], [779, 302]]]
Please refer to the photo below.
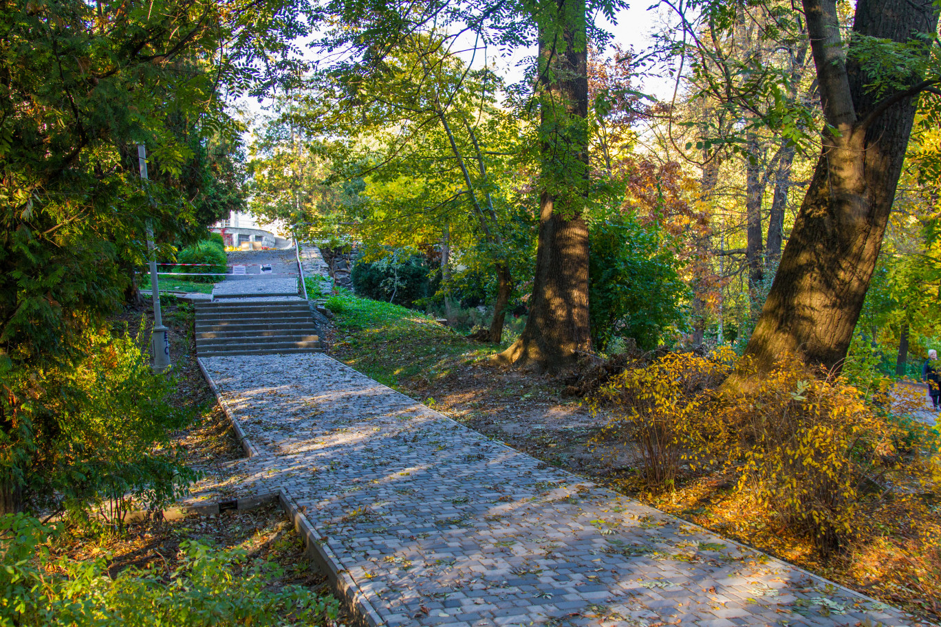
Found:
[[220, 97], [275, 78], [296, 13], [274, 0], [0, 8], [4, 358], [79, 358], [81, 329], [120, 306], [142, 265], [148, 222], [158, 242], [190, 241], [238, 204], [226, 171], [240, 125]]

